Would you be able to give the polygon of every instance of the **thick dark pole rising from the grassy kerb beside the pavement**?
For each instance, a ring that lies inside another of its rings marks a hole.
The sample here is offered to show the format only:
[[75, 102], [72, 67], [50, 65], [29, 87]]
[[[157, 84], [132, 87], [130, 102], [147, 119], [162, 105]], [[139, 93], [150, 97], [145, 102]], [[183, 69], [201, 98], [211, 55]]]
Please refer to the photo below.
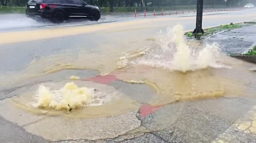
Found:
[[197, 0], [197, 21], [196, 21], [196, 26], [195, 30], [193, 31], [193, 34], [195, 34], [195, 37], [197, 34], [203, 34], [203, 28], [202, 28], [202, 23], [203, 23], [203, 0]]

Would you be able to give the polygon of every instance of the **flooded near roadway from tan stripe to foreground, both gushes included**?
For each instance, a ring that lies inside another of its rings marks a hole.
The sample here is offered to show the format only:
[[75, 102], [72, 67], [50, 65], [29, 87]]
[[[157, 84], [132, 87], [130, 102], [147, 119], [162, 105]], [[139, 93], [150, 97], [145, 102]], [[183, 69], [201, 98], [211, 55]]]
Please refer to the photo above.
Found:
[[256, 142], [254, 64], [187, 42], [192, 16], [116, 20], [0, 33], [1, 142]]

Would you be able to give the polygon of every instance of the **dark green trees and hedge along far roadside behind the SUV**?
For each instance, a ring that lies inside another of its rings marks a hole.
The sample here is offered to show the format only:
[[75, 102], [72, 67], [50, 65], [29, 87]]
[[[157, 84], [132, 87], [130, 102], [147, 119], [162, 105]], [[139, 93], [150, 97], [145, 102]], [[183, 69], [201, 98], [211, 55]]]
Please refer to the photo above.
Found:
[[[0, 0], [0, 13], [23, 13], [26, 9], [26, 3], [29, 0]], [[141, 0], [83, 0], [87, 4], [99, 7], [101, 12], [141, 12]], [[237, 0], [227, 1], [228, 7], [239, 7]], [[247, 3], [247, 0], [240, 0], [241, 6]], [[170, 9], [196, 9], [197, 1], [187, 0], [143, 0], [143, 9], [153, 12], [169, 11]], [[241, 7], [240, 6], [240, 7]], [[205, 1], [205, 9], [224, 8], [225, 1]]]

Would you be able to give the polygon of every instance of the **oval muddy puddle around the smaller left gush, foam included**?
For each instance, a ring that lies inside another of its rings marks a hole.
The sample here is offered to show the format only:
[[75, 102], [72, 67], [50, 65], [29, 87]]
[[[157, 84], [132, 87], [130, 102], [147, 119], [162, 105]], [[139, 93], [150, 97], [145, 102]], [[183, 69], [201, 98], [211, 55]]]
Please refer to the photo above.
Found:
[[86, 81], [47, 82], [20, 88], [15, 93], [19, 96], [10, 98], [10, 101], [35, 115], [111, 117], [140, 107], [113, 87]]

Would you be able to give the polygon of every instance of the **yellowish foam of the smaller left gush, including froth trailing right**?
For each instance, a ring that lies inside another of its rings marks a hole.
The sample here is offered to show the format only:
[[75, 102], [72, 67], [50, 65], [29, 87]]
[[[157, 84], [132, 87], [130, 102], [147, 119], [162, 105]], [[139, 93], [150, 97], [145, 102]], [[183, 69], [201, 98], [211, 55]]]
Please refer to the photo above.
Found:
[[102, 92], [95, 92], [92, 88], [79, 88], [74, 82], [68, 82], [59, 90], [40, 85], [34, 107], [45, 109], [78, 109], [86, 106], [100, 106], [110, 101], [110, 96]]

